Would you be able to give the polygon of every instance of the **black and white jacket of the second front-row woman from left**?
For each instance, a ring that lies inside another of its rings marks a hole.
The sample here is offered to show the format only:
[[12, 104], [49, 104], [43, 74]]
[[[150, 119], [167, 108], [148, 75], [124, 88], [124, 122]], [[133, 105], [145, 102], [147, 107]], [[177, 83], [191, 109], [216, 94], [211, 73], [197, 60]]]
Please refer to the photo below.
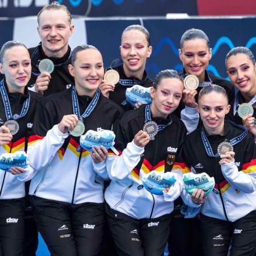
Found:
[[[102, 203], [103, 178], [94, 172], [90, 152], [76, 151], [80, 137], [63, 134], [57, 127], [64, 115], [73, 114], [71, 91], [72, 87], [42, 99], [27, 150], [34, 171], [30, 169], [19, 176], [23, 175], [23, 180], [33, 177], [30, 195], [74, 204]], [[91, 97], [78, 95], [81, 115], [91, 100]], [[85, 133], [97, 131], [99, 127], [111, 130], [122, 112], [121, 107], [101, 94], [94, 110], [83, 118]]]

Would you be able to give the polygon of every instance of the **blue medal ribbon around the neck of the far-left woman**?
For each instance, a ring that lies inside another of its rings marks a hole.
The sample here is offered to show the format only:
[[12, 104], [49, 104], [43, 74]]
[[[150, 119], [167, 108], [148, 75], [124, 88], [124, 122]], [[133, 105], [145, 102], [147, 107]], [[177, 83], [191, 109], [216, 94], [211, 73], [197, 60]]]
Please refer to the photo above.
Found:
[[0, 91], [1, 91], [1, 95], [2, 95], [2, 99], [3, 99], [3, 104], [5, 105], [5, 114], [6, 114], [6, 118], [7, 120], [10, 119], [18, 119], [21, 117], [24, 117], [27, 114], [27, 110], [29, 110], [29, 102], [30, 102], [30, 93], [29, 93], [29, 98], [26, 99], [26, 101], [23, 103], [23, 107], [21, 110], [21, 114], [11, 114], [11, 105], [10, 105], [10, 101], [7, 95], [7, 91], [5, 89], [5, 85], [3, 84], [3, 79], [0, 82]]

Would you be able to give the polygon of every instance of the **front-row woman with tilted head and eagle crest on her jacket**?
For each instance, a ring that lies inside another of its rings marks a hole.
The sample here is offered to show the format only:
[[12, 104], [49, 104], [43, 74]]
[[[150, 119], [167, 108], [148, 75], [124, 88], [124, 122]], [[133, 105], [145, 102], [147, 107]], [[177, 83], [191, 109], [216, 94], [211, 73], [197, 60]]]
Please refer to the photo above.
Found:
[[[163, 70], [151, 88], [152, 103], [127, 111], [113, 125], [120, 155], [109, 154], [106, 158], [111, 182], [105, 199], [118, 255], [155, 256], [165, 251], [173, 201], [183, 187], [184, 170], [179, 163], [186, 127], [172, 114], [182, 91], [181, 75]], [[149, 137], [143, 126], [149, 126], [154, 133]], [[174, 186], [167, 187], [161, 195], [147, 191], [142, 181], [153, 170], [159, 174], [171, 172], [176, 178]]]

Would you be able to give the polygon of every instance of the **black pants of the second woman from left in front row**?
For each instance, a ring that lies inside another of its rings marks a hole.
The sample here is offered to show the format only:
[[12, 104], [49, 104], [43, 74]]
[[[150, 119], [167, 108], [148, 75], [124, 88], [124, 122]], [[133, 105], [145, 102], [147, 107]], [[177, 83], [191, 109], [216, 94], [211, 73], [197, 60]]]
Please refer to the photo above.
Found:
[[51, 256], [98, 255], [104, 203], [77, 205], [30, 196], [34, 219]]

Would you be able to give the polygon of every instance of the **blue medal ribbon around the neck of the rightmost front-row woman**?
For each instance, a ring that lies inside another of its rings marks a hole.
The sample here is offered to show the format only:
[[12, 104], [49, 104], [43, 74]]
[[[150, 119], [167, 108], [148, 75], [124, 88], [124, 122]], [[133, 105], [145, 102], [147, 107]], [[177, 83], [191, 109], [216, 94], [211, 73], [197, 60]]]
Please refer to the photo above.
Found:
[[[243, 138], [245, 138], [245, 136], [248, 133], [247, 128], [242, 126], [242, 125], [237, 125], [234, 122], [231, 122], [229, 120], [227, 120], [227, 122], [231, 123], [234, 126], [240, 127], [241, 129], [244, 130], [244, 132], [241, 135], [239, 135], [239, 136], [237, 136], [237, 137], [235, 137], [233, 139], [225, 139], [225, 141], [226, 142], [230, 142], [231, 145], [235, 145], [238, 142], [241, 142], [243, 140]], [[206, 150], [207, 154], [209, 155], [209, 157], [218, 157], [219, 156], [218, 153], [215, 154], [215, 155], [213, 154], [213, 149], [211, 149], [210, 142], [207, 139], [207, 136], [206, 136], [206, 133], [205, 133], [205, 130], [203, 129], [203, 127], [201, 129], [201, 137], [202, 137], [203, 145], [205, 146], [205, 150]]]

